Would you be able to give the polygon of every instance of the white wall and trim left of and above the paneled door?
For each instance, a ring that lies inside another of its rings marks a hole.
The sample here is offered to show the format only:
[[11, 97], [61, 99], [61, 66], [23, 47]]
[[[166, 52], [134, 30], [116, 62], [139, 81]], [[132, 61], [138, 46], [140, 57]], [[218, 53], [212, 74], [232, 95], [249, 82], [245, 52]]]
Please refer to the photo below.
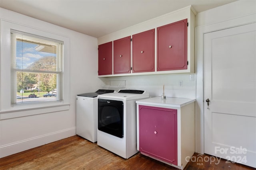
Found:
[[240, 0], [200, 12], [196, 16], [196, 152], [198, 153], [204, 153], [203, 35], [211, 31], [256, 22], [255, 14], [255, 0]]

